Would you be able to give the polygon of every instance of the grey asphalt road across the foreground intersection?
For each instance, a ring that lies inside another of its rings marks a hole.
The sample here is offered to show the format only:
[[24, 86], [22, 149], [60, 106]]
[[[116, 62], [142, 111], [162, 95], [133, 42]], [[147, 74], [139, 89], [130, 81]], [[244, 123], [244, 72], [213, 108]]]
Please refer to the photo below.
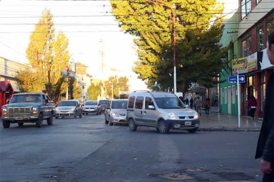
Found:
[[259, 182], [258, 132], [109, 126], [104, 115], [0, 126], [0, 182]]

